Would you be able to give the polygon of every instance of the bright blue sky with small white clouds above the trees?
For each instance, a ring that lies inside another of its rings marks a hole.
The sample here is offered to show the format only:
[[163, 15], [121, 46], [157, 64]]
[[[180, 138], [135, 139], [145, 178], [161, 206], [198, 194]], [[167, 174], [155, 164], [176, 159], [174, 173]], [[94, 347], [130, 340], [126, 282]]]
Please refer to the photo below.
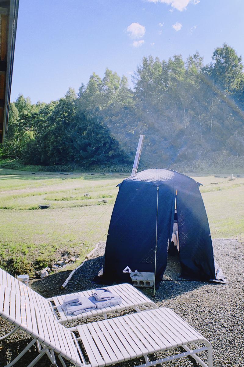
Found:
[[107, 67], [132, 85], [148, 55], [208, 63], [227, 42], [244, 56], [243, 15], [243, 0], [20, 0], [11, 100], [56, 100]]

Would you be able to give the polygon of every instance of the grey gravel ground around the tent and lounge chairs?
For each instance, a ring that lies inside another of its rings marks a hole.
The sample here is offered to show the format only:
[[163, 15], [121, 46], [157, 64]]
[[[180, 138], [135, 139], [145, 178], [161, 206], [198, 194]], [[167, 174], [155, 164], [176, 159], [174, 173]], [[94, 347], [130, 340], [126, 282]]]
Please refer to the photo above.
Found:
[[[176, 257], [171, 257], [154, 301], [158, 306], [173, 309], [211, 342], [214, 349], [214, 367], [244, 367], [243, 244], [236, 240], [218, 239], [213, 240], [213, 246], [215, 260], [223, 269], [229, 284], [179, 280], [179, 262]], [[32, 280], [30, 286], [44, 297], [94, 288], [92, 279], [100, 269], [104, 249], [105, 243], [101, 242], [91, 258], [77, 270], [65, 290], [61, 290], [60, 286], [68, 277], [70, 273], [68, 270], [42, 280]], [[151, 298], [152, 290], [144, 290], [144, 292]], [[113, 313], [110, 317], [123, 313]], [[102, 318], [97, 317], [92, 321], [100, 319]], [[69, 323], [66, 326], [75, 324], [77, 323]], [[11, 326], [0, 320], [0, 335], [10, 330]], [[16, 357], [29, 340], [25, 333], [17, 331], [8, 341], [0, 344], [0, 367]], [[179, 351], [182, 350], [179, 349]], [[18, 362], [18, 366], [27, 366], [36, 355], [33, 347], [25, 358]], [[141, 362], [142, 360], [120, 363], [119, 366], [130, 367]], [[47, 357], [43, 357], [36, 366], [48, 367], [50, 361]], [[193, 359], [183, 358], [167, 362], [165, 366], [196, 367], [199, 365]]]

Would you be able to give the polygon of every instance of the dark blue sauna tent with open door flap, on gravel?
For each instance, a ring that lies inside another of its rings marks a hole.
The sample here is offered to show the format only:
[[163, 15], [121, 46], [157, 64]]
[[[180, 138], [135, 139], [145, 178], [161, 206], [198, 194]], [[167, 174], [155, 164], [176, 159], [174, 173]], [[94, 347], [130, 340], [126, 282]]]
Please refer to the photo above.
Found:
[[154, 272], [157, 223], [159, 285], [167, 264], [176, 200], [181, 277], [215, 280], [209, 223], [199, 185], [163, 168], [141, 171], [121, 182], [108, 230], [102, 279], [127, 283], [131, 272]]

